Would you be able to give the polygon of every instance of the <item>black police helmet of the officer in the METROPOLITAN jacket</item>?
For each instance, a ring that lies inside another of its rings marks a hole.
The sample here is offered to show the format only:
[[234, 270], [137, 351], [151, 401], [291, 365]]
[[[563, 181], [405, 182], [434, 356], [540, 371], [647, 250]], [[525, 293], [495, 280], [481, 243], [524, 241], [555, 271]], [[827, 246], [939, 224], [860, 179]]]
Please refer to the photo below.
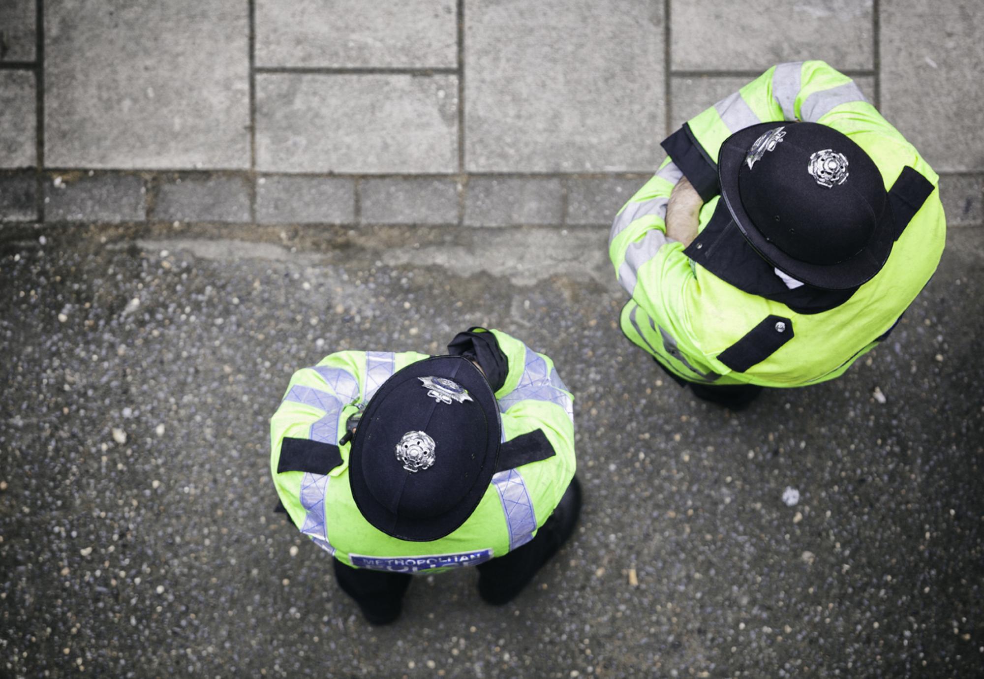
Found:
[[393, 537], [444, 537], [485, 494], [501, 432], [495, 395], [471, 361], [411, 363], [379, 388], [352, 437], [348, 479], [356, 507]]

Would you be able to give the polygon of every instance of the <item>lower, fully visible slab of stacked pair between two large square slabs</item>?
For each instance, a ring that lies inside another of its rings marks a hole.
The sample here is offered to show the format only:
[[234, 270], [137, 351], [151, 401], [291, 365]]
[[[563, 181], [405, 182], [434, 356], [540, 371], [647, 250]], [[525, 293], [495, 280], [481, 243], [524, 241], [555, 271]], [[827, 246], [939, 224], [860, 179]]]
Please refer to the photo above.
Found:
[[458, 171], [456, 76], [261, 74], [256, 87], [262, 171]]

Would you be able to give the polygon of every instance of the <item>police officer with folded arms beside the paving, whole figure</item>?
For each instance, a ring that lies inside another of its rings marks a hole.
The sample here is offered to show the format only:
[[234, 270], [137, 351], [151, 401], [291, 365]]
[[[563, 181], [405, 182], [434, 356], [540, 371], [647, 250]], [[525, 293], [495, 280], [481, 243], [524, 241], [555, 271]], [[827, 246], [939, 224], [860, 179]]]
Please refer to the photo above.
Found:
[[609, 254], [623, 332], [701, 398], [841, 375], [940, 261], [937, 174], [822, 61], [770, 68], [662, 146]]

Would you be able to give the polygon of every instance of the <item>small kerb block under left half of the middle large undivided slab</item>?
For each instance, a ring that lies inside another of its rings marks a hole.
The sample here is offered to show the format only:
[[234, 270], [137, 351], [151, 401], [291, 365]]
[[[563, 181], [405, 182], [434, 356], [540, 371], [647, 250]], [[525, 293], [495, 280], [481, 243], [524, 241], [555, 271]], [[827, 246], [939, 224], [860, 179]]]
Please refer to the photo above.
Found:
[[560, 179], [474, 177], [464, 198], [466, 226], [559, 224], [563, 209]]

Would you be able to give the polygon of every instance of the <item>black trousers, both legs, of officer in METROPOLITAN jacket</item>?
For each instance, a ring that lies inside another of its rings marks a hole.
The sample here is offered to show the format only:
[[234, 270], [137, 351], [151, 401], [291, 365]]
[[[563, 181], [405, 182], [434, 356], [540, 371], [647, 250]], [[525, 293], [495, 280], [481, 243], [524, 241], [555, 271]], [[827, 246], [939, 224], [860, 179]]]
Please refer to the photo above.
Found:
[[[565, 538], [563, 532], [563, 526], [553, 515], [522, 547], [476, 566], [481, 597], [492, 604], [511, 600], [560, 549]], [[367, 618], [383, 621], [400, 614], [403, 593], [413, 576], [351, 568], [336, 559], [335, 577], [341, 590], [355, 599]]]

